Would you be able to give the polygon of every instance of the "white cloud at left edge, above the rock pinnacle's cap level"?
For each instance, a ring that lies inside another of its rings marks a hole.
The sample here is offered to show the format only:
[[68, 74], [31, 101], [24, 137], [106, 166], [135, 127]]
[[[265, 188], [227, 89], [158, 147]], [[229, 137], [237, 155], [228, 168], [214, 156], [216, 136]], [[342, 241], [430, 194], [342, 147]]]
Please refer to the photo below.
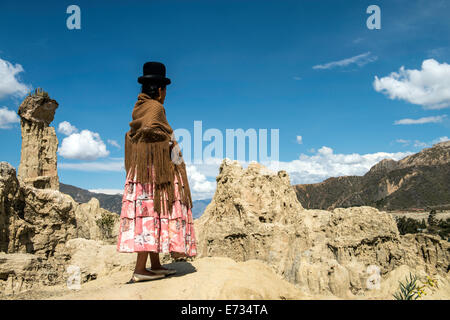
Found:
[[20, 64], [12, 64], [0, 59], [0, 98], [8, 95], [24, 96], [31, 90], [27, 85], [20, 83], [17, 75], [23, 72]]

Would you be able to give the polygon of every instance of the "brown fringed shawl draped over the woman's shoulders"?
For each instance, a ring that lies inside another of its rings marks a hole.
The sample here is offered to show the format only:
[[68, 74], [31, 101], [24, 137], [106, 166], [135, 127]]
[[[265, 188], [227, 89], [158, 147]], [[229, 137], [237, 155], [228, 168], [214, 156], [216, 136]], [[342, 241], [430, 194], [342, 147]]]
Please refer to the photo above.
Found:
[[[147, 94], [138, 96], [125, 135], [125, 170], [131, 178], [136, 175], [140, 183], [154, 183], [154, 208], [161, 212], [172, 211], [175, 201], [174, 177], [178, 179], [178, 192], [182, 202], [192, 208], [191, 192], [184, 161], [176, 164], [171, 159], [172, 148], [177, 145], [173, 130], [166, 119], [164, 106]], [[179, 154], [181, 156], [181, 152]], [[177, 162], [178, 163], [178, 162]], [[151, 175], [152, 165], [155, 176]], [[184, 184], [184, 188], [182, 186]], [[167, 208], [165, 207], [167, 200]], [[163, 206], [163, 207], [161, 207]]]

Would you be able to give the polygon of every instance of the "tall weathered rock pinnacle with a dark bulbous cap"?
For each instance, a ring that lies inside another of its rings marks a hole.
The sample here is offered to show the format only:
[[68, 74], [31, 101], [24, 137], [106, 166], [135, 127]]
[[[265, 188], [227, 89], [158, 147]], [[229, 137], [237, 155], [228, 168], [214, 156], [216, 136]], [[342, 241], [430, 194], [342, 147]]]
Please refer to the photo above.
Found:
[[50, 123], [58, 103], [48, 93], [37, 89], [19, 107], [22, 151], [18, 178], [39, 189], [59, 190], [57, 171], [58, 138]]

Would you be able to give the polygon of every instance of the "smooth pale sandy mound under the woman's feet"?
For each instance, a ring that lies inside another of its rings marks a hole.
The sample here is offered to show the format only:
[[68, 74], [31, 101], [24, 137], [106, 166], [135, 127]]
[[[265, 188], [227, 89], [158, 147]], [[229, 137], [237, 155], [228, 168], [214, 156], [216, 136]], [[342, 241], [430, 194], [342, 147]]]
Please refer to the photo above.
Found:
[[177, 274], [163, 279], [126, 284], [130, 270], [113, 272], [82, 284], [78, 291], [56, 290], [52, 299], [300, 299], [306, 297], [294, 285], [258, 260], [235, 262], [230, 258], [206, 257], [192, 263], [166, 265]]

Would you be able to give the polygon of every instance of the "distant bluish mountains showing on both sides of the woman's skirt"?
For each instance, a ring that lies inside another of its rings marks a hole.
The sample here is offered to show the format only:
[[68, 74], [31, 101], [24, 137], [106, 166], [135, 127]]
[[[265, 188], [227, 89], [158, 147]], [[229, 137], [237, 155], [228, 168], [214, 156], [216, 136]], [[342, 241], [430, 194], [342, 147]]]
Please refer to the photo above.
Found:
[[[70, 195], [76, 202], [86, 203], [91, 198], [97, 198], [100, 202], [100, 207], [120, 214], [122, 209], [122, 195], [121, 194], [105, 194], [96, 193], [89, 190], [81, 189], [70, 184], [59, 184], [59, 191]], [[199, 218], [205, 211], [206, 206], [211, 202], [211, 199], [206, 200], [194, 200], [192, 202], [192, 216], [194, 219]]]

